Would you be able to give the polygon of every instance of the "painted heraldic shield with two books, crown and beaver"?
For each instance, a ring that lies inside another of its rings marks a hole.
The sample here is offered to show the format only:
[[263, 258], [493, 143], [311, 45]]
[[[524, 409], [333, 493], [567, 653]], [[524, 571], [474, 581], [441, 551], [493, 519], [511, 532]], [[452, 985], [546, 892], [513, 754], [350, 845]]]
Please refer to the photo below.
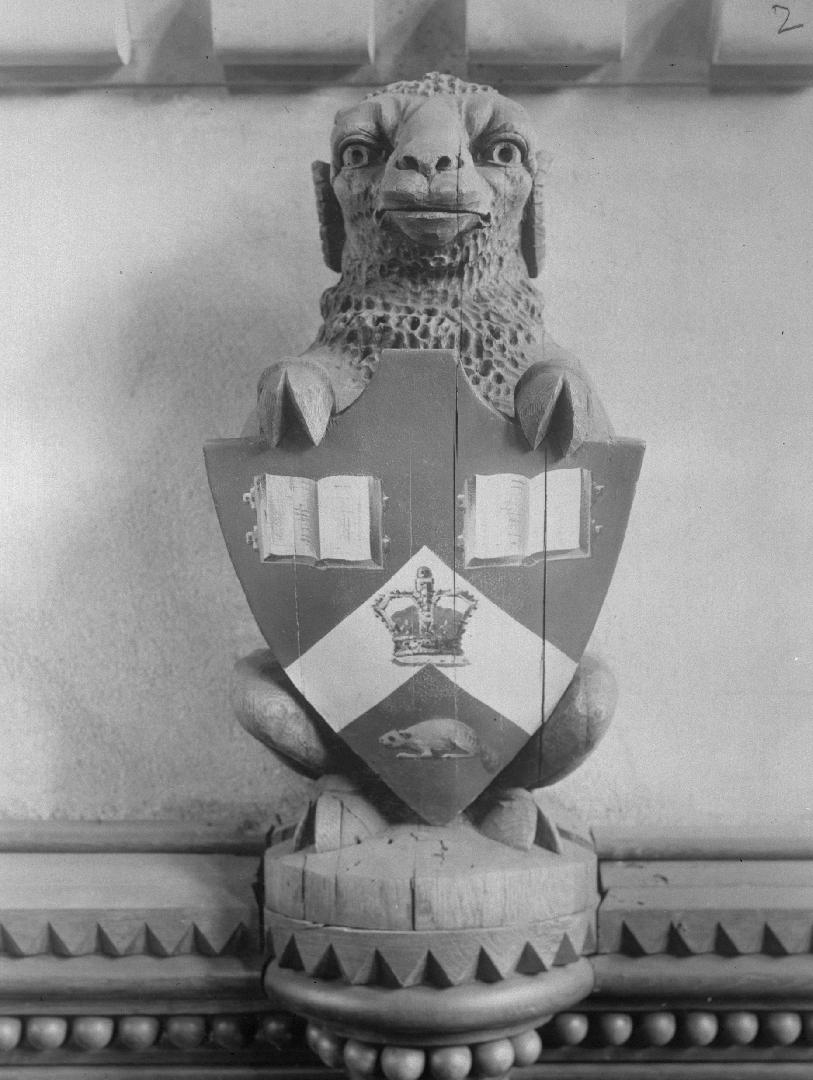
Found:
[[430, 824], [550, 716], [619, 556], [643, 444], [548, 464], [452, 352], [392, 350], [320, 446], [206, 446], [257, 623], [325, 723]]

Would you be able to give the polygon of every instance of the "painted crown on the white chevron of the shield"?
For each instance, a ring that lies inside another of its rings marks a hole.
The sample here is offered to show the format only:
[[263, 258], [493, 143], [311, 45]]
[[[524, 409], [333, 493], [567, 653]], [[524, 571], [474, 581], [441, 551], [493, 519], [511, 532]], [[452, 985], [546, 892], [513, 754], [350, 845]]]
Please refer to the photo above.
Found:
[[437, 589], [428, 566], [419, 566], [415, 589], [393, 589], [372, 602], [392, 634], [396, 664], [465, 664], [463, 633], [477, 607], [465, 590]]

